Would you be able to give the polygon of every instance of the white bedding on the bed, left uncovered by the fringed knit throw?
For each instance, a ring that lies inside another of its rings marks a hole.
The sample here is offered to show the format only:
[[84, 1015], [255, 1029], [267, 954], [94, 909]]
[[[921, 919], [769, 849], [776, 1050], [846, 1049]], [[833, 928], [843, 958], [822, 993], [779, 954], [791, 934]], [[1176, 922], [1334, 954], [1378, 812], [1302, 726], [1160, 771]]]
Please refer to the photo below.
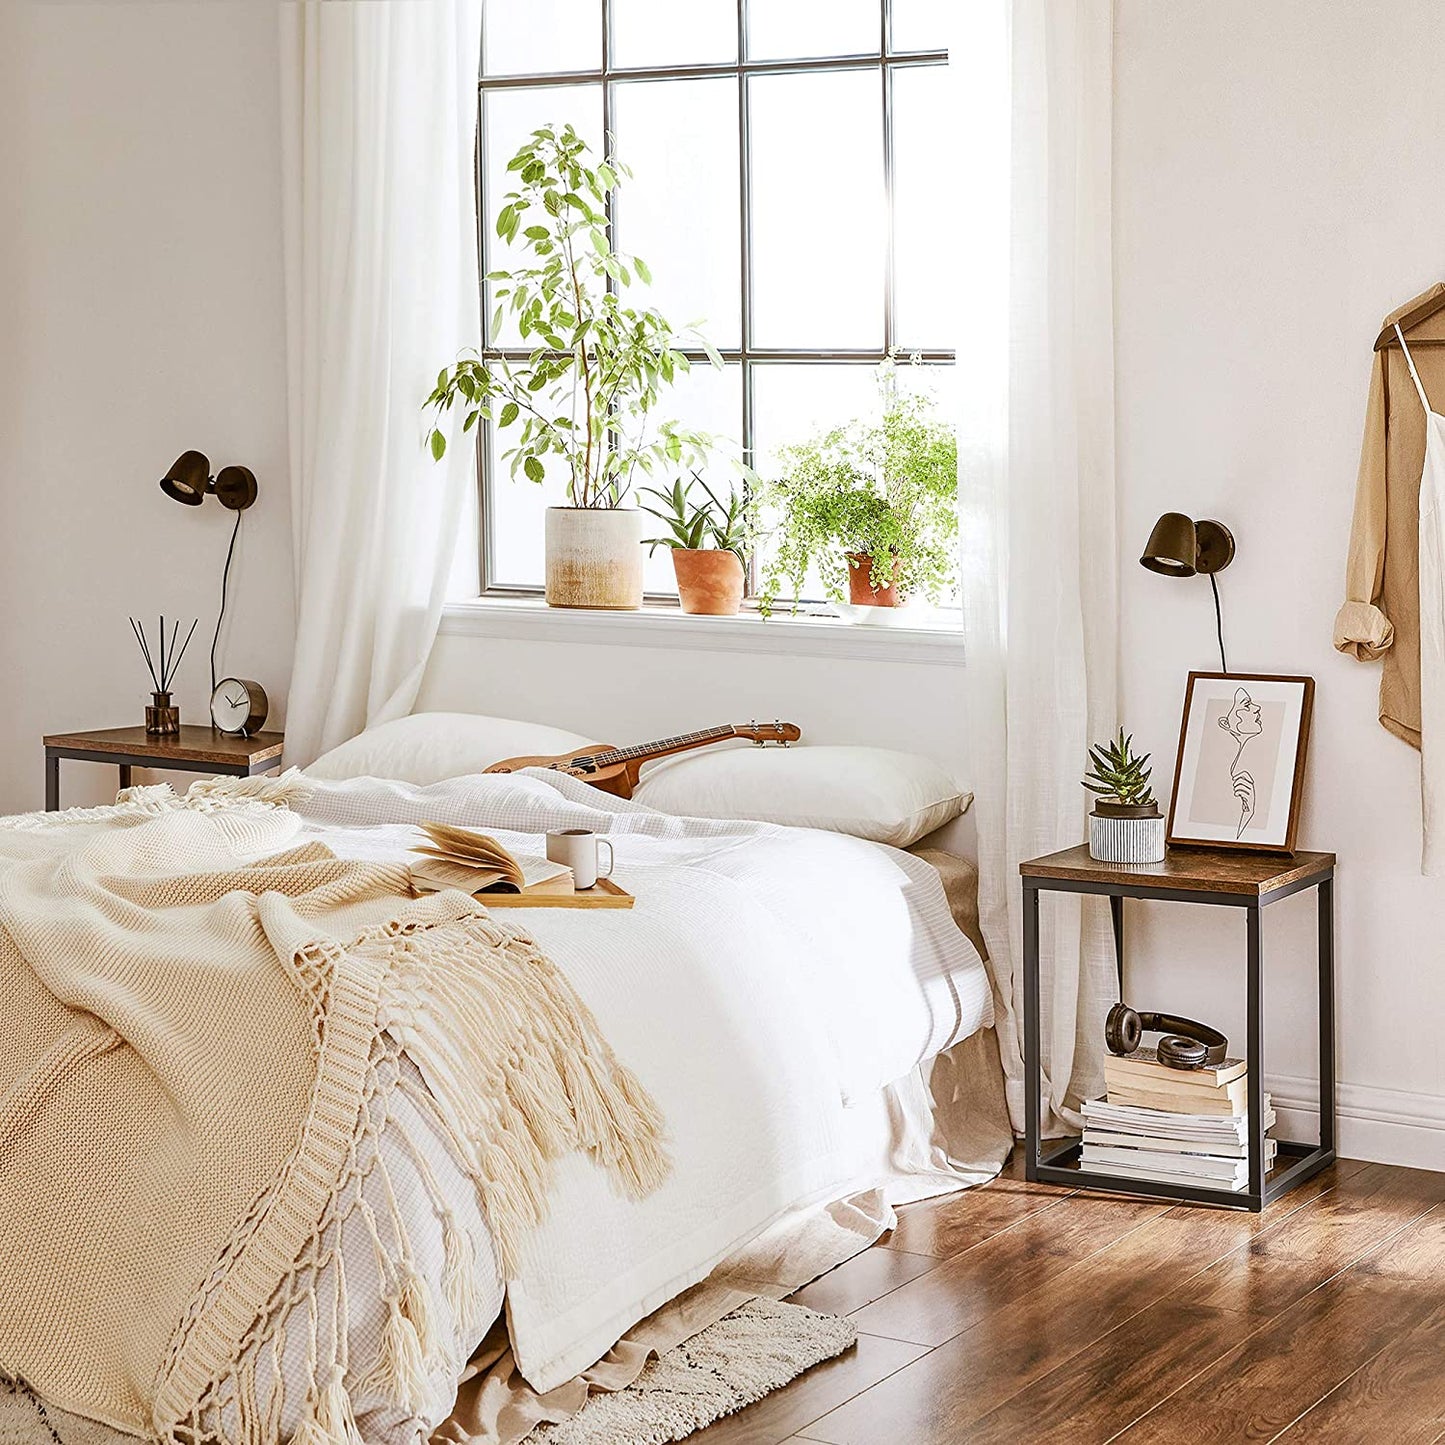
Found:
[[[416, 1103], [425, 1081], [403, 1053], [406, 1127], [389, 1120], [379, 1149], [416, 1270], [438, 1287], [425, 1389], [403, 1403], [366, 1371], [386, 1329], [384, 1280], [364, 1251], [344, 1256], [337, 1329], [368, 1445], [436, 1426], [444, 1438], [520, 1439], [575, 1410], [588, 1383], [626, 1384], [642, 1363], [629, 1341], [663, 1348], [750, 1295], [786, 1293], [871, 1243], [892, 1204], [978, 1182], [1009, 1147], [990, 983], [958, 923], [968, 868], [948, 855], [669, 816], [540, 772], [426, 786], [315, 779], [288, 805], [296, 845], [344, 860], [405, 860], [423, 819], [522, 847], [564, 827], [613, 840], [633, 909], [532, 909], [507, 922], [530, 932], [642, 1079], [672, 1163], [633, 1202], [581, 1157], [562, 1160], [548, 1215], [503, 1279], [475, 1191]], [[948, 1078], [932, 1095], [931, 1071]], [[474, 1244], [465, 1309], [439, 1287], [455, 1267], [444, 1214], [452, 1241]], [[295, 1331], [260, 1370], [263, 1399], [267, 1370], [301, 1377], [306, 1348]], [[280, 1438], [299, 1429], [303, 1396], [286, 1393]], [[217, 1433], [241, 1439], [243, 1423], [221, 1420]]]

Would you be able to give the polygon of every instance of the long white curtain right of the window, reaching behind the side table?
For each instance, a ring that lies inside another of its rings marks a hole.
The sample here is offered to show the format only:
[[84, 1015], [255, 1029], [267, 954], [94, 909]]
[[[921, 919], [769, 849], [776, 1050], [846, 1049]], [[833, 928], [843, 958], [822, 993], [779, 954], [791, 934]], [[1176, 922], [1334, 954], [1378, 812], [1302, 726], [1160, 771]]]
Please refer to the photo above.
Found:
[[[998, 1043], [1023, 1131], [1019, 863], [1085, 837], [1116, 727], [1118, 555], [1110, 0], [959, 7], [965, 214], [959, 481], [968, 746]], [[1103, 899], [1046, 894], [1045, 1129], [1100, 1085], [1116, 990]]]

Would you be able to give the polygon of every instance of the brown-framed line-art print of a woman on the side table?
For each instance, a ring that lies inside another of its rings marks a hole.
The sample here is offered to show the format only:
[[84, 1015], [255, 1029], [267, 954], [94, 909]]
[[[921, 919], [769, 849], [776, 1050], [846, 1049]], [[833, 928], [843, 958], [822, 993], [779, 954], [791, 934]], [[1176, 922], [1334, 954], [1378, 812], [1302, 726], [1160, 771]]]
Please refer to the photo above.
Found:
[[1169, 845], [1293, 853], [1314, 678], [1191, 672]]

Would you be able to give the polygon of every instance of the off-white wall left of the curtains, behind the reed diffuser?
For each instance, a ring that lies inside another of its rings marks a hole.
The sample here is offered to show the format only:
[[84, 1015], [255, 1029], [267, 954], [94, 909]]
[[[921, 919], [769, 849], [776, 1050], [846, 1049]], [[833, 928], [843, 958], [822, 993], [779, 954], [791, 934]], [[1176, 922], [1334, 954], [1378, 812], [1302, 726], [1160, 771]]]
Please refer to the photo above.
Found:
[[188, 447], [257, 475], [220, 662], [285, 699], [277, 64], [270, 4], [0, 4], [3, 812], [40, 805], [43, 733], [143, 721], [127, 613], [201, 617], [176, 692], [207, 721], [233, 514], [162, 494]]

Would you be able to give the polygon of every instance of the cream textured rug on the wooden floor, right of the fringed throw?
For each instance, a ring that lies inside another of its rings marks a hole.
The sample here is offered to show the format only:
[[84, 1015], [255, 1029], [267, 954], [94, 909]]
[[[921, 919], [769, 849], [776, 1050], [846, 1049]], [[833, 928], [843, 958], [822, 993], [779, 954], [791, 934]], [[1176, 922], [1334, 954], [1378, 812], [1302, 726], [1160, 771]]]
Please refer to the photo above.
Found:
[[848, 1319], [754, 1299], [653, 1360], [616, 1394], [594, 1394], [526, 1445], [666, 1445], [760, 1400], [858, 1338]]

